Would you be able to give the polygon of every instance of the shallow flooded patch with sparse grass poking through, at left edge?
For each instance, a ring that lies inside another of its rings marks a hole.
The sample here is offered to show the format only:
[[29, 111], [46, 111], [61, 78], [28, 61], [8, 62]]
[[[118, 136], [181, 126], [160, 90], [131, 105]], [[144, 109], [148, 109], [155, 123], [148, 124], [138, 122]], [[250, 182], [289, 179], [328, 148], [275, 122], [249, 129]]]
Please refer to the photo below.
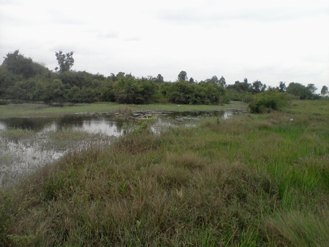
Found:
[[105, 133], [64, 128], [61, 131], [37, 132], [10, 128], [0, 131], [0, 187], [22, 179], [38, 167], [53, 162], [55, 153], [107, 146], [116, 138]]

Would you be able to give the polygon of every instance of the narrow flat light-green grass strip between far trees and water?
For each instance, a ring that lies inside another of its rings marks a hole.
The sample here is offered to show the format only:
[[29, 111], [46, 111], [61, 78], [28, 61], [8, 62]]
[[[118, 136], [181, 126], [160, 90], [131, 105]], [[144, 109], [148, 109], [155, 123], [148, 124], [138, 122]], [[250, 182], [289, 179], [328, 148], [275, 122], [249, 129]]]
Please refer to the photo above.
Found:
[[77, 112], [118, 112], [127, 110], [152, 110], [152, 111], [215, 111], [224, 109], [246, 109], [240, 102], [231, 102], [227, 105], [175, 105], [175, 104], [149, 104], [149, 105], [124, 105], [117, 103], [95, 103], [64, 105], [53, 107], [46, 104], [8, 104], [0, 105], [0, 117], [31, 117], [31, 116], [62, 116]]

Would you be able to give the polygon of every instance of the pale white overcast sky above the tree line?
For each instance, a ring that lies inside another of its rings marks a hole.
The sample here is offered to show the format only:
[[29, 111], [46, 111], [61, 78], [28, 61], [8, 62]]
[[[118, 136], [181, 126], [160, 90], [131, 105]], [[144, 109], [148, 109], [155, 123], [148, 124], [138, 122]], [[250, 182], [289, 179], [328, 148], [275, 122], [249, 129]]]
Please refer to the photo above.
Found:
[[[329, 86], [328, 0], [0, 0], [0, 56], [175, 81]], [[1, 60], [1, 62], [3, 59]]]

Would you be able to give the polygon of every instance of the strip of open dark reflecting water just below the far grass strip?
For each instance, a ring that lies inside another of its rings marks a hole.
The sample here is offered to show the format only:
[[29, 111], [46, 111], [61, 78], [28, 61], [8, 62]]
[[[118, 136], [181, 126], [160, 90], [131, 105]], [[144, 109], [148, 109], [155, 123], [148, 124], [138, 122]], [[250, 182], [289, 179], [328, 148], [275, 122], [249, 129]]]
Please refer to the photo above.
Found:
[[29, 129], [37, 132], [61, 131], [66, 128], [82, 130], [89, 132], [102, 132], [107, 135], [120, 136], [123, 133], [124, 126], [130, 121], [134, 122], [141, 116], [156, 115], [157, 120], [154, 125], [159, 124], [175, 125], [177, 123], [189, 125], [194, 120], [204, 116], [215, 116], [220, 118], [230, 118], [232, 111], [214, 111], [214, 112], [142, 112], [136, 117], [122, 119], [114, 115], [87, 115], [71, 114], [64, 117], [13, 117], [0, 119], [0, 130], [10, 128]]

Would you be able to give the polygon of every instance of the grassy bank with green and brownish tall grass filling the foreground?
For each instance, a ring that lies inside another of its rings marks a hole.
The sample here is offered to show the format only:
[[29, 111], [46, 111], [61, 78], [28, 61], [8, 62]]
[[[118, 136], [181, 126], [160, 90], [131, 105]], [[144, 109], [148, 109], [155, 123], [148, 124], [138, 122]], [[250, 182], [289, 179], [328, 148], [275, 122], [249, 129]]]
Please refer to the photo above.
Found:
[[326, 247], [319, 102], [68, 154], [1, 189], [0, 246]]

